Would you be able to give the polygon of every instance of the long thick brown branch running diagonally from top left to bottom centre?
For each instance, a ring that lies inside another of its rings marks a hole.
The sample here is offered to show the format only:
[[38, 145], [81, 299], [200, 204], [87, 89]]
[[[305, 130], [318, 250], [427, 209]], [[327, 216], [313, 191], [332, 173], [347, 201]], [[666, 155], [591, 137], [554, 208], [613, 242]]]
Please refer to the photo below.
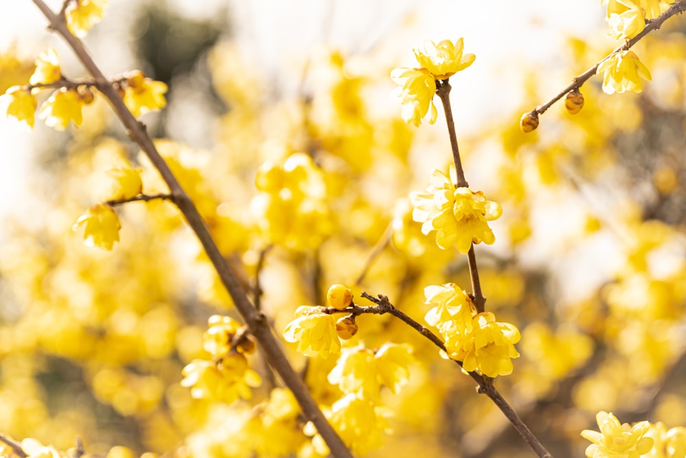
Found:
[[121, 95], [119, 95], [115, 87], [108, 82], [102, 71], [100, 71], [99, 67], [93, 62], [93, 59], [88, 54], [88, 51], [86, 51], [82, 41], [69, 32], [64, 21], [61, 21], [60, 17], [57, 16], [43, 0], [33, 1], [48, 19], [50, 23], [49, 28], [55, 30], [64, 37], [64, 40], [71, 46], [84, 67], [91, 73], [97, 89], [109, 100], [115, 113], [117, 113], [122, 124], [126, 127], [129, 137], [132, 141], [141, 146], [143, 152], [145, 152], [154, 167], [161, 174], [165, 183], [167, 183], [171, 199], [176, 203], [176, 206], [185, 217], [193, 232], [196, 233], [200, 244], [202, 244], [204, 251], [207, 253], [207, 257], [209, 257], [209, 260], [212, 262], [217, 274], [222, 280], [222, 284], [224, 284], [224, 287], [233, 299], [236, 310], [238, 310], [239, 314], [244, 319], [250, 333], [255, 336], [263, 347], [270, 365], [274, 368], [276, 373], [279, 374], [284, 384], [292, 391], [296, 400], [298, 400], [307, 420], [314, 423], [334, 457], [352, 458], [353, 455], [350, 450], [346, 448], [342, 439], [340, 439], [329, 422], [327, 422], [322, 411], [320, 411], [317, 402], [312, 398], [311, 393], [305, 386], [305, 383], [303, 383], [303, 380], [300, 380], [300, 377], [288, 362], [279, 341], [276, 340], [276, 337], [274, 337], [274, 334], [272, 333], [272, 329], [270, 328], [266, 317], [259, 312], [259, 310], [255, 310], [255, 306], [253, 306], [250, 299], [248, 299], [246, 292], [241, 288], [239, 279], [235, 273], [233, 273], [228, 262], [217, 248], [217, 244], [215, 244], [212, 239], [209, 229], [202, 220], [198, 209], [182, 189], [174, 174], [172, 174], [169, 165], [167, 165], [155, 148], [152, 139], [147, 134], [144, 124], [139, 122], [134, 115], [132, 115], [123, 103]]

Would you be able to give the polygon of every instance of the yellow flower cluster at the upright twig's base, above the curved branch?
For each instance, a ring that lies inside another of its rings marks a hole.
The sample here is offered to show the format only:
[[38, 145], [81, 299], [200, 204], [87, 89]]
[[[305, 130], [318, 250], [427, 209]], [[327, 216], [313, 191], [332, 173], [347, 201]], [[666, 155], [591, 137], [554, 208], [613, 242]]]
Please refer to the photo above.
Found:
[[490, 312], [477, 313], [471, 297], [456, 284], [427, 286], [426, 304], [433, 306], [426, 321], [440, 332], [449, 358], [462, 362], [466, 371], [488, 377], [512, 373], [512, 358], [519, 357], [514, 344], [519, 330], [495, 321]]

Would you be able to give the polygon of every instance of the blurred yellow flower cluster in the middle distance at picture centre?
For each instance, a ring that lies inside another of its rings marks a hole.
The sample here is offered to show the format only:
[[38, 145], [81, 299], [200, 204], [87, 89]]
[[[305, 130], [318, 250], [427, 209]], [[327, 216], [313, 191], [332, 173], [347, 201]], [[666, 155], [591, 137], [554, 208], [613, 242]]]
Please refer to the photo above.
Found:
[[324, 174], [303, 152], [257, 170], [250, 211], [265, 239], [289, 249], [318, 247], [331, 233]]

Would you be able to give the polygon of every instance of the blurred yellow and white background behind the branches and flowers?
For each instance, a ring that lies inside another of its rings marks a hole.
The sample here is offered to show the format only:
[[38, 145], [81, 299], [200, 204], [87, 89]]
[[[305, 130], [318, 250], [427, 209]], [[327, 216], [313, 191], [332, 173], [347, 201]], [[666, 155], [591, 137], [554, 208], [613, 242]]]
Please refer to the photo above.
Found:
[[[0, 89], [25, 84], [47, 47], [64, 74], [86, 76], [31, 2], [0, 12]], [[169, 85], [167, 108], [142, 120], [247, 283], [274, 244], [260, 279], [278, 334], [333, 283], [388, 295], [418, 320], [425, 286], [469, 289], [466, 260], [421, 236], [405, 199], [450, 161], [442, 111], [435, 125], [405, 125], [389, 78], [425, 40], [464, 37], [476, 60], [451, 78], [451, 100], [466, 176], [504, 209], [495, 244], [477, 247], [484, 293], [522, 332], [514, 373], [496, 386], [554, 456], [572, 457], [600, 410], [686, 426], [685, 32], [670, 19], [637, 45], [652, 72], [643, 93], [606, 95], [595, 77], [581, 113], [558, 103], [530, 135], [521, 113], [617, 45], [596, 0], [112, 0], [85, 43], [106, 75], [141, 69]], [[146, 192], [162, 189], [106, 103], [66, 133], [0, 121], [0, 142], [0, 431], [63, 449], [79, 436], [94, 453], [311, 456], [300, 433], [246, 433], [267, 383], [230, 406], [180, 387], [182, 367], [207, 358], [206, 319], [235, 312], [171, 206], [121, 209], [113, 252], [71, 231], [117, 157], [141, 165]], [[316, 165], [319, 207], [261, 213], [257, 168], [296, 152]], [[394, 433], [371, 456], [532, 456], [434, 347], [387, 317], [359, 326], [351, 345], [407, 342], [418, 360], [401, 393], [384, 393]], [[305, 366], [287, 348], [322, 404], [341, 396], [326, 380], [334, 360]], [[259, 356], [250, 363], [268, 380]], [[250, 448], [268, 440], [283, 450]]]

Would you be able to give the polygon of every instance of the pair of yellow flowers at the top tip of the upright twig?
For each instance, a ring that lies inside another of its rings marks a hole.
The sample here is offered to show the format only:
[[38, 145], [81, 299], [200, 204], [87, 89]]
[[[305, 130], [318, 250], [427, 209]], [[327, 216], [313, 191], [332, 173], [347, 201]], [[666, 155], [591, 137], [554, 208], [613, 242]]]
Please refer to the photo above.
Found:
[[436, 122], [437, 111], [434, 105], [436, 81], [447, 80], [474, 62], [474, 54], [463, 54], [462, 38], [455, 43], [449, 40], [427, 41], [424, 50], [414, 49], [419, 68], [401, 67], [394, 69], [390, 77], [399, 85], [394, 95], [403, 105], [402, 116], [405, 122], [415, 126], [431, 111], [429, 124]]

